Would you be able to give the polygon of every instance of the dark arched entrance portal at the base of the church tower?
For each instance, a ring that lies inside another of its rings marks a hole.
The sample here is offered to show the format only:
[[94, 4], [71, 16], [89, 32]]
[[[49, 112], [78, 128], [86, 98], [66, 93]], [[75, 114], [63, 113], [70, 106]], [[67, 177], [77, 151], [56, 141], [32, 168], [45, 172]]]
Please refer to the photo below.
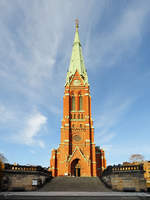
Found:
[[81, 167], [79, 159], [75, 159], [71, 163], [71, 176], [81, 176]]

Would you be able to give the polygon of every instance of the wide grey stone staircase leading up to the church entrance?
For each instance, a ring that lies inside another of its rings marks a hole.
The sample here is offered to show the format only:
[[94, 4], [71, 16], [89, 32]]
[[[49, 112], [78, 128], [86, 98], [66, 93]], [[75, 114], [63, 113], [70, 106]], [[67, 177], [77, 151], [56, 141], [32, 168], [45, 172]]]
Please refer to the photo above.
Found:
[[98, 177], [56, 177], [46, 183], [39, 191], [110, 192], [111, 190]]

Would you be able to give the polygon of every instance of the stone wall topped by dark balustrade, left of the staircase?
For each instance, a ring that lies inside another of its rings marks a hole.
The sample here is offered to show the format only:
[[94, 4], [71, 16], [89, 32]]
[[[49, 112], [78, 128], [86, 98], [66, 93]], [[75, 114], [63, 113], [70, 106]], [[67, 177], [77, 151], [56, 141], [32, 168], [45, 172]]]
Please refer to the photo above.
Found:
[[3, 170], [2, 189], [32, 191], [38, 189], [51, 177], [51, 173], [40, 166], [29, 167], [7, 164]]

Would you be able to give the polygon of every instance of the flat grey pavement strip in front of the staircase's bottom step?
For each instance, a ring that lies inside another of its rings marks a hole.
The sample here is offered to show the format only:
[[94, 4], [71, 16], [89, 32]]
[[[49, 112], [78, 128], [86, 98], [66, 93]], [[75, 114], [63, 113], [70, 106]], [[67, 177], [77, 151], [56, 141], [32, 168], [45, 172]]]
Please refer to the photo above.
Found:
[[150, 200], [140, 192], [1, 192], [0, 200]]

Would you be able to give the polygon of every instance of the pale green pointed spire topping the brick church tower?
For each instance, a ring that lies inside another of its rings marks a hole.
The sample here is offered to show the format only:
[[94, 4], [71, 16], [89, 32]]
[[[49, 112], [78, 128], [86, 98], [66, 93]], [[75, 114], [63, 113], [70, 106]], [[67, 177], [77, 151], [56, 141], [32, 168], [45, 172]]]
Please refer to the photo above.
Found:
[[84, 65], [84, 59], [82, 56], [82, 48], [80, 44], [78, 28], [79, 28], [79, 24], [78, 24], [78, 20], [76, 20], [76, 32], [75, 32], [75, 38], [73, 42], [69, 71], [67, 72], [66, 84], [70, 83], [71, 77], [72, 75], [75, 74], [76, 71], [78, 71], [79, 74], [81, 75], [84, 81], [84, 84], [85, 83], [88, 84], [88, 76], [87, 76], [87, 72]]

